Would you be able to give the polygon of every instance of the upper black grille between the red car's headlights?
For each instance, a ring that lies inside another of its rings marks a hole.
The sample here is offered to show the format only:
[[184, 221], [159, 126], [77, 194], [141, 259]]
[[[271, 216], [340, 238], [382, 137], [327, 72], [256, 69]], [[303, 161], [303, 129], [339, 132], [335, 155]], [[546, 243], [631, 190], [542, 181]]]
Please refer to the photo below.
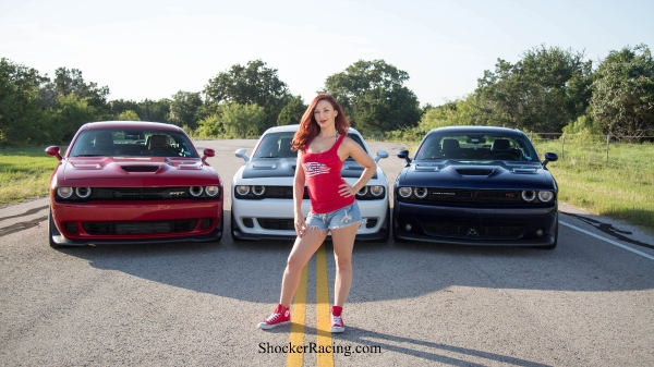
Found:
[[191, 198], [189, 186], [183, 187], [94, 187], [95, 200], [162, 200]]

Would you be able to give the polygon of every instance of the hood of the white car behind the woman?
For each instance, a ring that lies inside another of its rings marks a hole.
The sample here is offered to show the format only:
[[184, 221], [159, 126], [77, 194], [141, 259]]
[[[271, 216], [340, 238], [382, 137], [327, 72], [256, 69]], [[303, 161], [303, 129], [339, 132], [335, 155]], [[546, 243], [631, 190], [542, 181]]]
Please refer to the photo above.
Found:
[[[296, 158], [253, 159], [246, 163], [243, 170], [243, 179], [292, 178], [295, 175], [296, 164]], [[363, 166], [354, 160], [348, 159], [343, 162], [341, 170], [343, 178], [360, 178], [362, 173]], [[373, 179], [377, 179], [377, 172], [375, 172]]]

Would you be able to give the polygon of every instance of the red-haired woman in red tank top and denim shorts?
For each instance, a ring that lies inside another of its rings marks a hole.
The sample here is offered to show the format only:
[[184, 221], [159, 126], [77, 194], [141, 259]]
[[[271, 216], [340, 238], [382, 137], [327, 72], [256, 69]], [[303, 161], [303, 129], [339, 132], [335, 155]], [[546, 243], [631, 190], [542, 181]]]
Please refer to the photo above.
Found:
[[[330, 95], [318, 95], [302, 117], [292, 142], [298, 150], [298, 166], [293, 182], [295, 232], [298, 238], [291, 249], [281, 281], [281, 296], [275, 311], [259, 329], [272, 329], [291, 322], [291, 301], [300, 284], [302, 268], [331, 233], [336, 260], [335, 301], [331, 307], [331, 332], [343, 332], [341, 311], [352, 283], [352, 247], [362, 219], [356, 205], [356, 193], [375, 174], [373, 159], [348, 137], [350, 123]], [[341, 178], [343, 161], [352, 157], [364, 170], [354, 185]], [[308, 187], [311, 211], [302, 215], [304, 185]]]

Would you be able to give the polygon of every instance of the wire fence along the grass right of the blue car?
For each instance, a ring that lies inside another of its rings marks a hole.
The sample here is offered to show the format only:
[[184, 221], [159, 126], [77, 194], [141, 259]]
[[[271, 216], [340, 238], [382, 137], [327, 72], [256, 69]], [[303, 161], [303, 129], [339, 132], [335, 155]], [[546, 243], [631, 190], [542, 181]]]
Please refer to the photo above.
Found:
[[[629, 169], [654, 173], [654, 136], [528, 133], [538, 154], [589, 169]], [[641, 140], [644, 143], [628, 143]]]

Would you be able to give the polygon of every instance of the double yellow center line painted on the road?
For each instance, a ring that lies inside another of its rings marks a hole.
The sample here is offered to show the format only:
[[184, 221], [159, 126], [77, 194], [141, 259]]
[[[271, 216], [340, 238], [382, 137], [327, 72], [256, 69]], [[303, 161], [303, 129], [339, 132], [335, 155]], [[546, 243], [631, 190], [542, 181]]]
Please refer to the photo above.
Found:
[[[306, 278], [308, 265], [302, 269], [300, 285], [295, 292], [292, 309], [291, 345], [304, 345], [304, 325], [306, 319]], [[329, 290], [327, 288], [327, 259], [325, 245], [316, 252], [316, 329], [317, 347], [331, 345], [331, 319], [329, 316]], [[334, 354], [317, 353], [317, 365], [322, 367], [334, 367]], [[300, 367], [304, 359], [303, 353], [289, 353], [287, 355], [287, 367]]]

